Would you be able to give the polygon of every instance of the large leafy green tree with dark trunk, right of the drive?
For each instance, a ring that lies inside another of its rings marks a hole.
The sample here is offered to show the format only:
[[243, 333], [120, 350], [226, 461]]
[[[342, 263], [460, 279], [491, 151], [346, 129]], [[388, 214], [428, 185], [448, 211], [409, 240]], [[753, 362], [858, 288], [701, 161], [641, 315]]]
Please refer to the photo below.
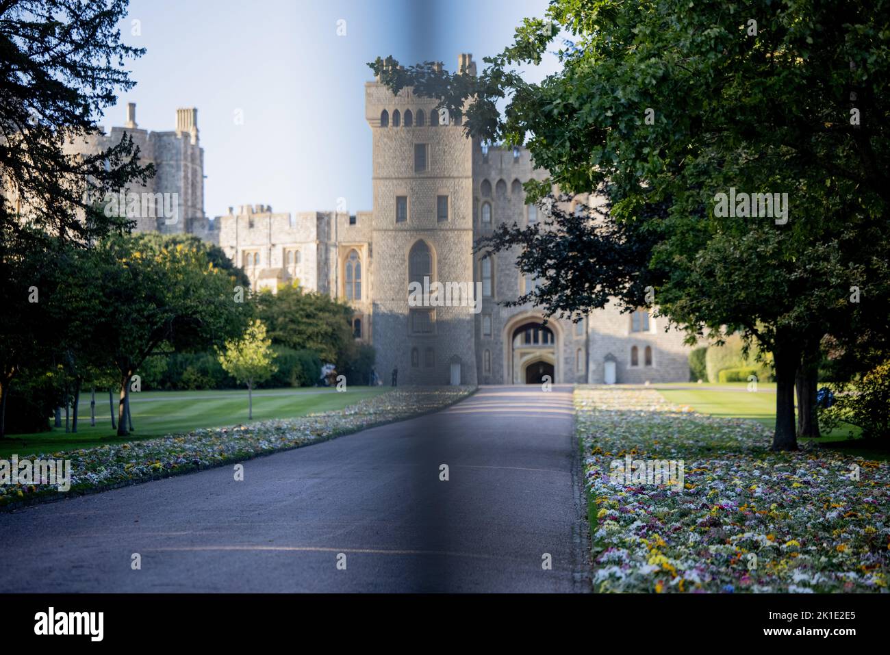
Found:
[[[729, 10], [554, 0], [478, 77], [433, 62], [372, 68], [393, 89], [414, 85], [449, 108], [468, 101], [465, 128], [478, 138], [527, 142], [551, 175], [525, 185], [527, 201], [551, 183], [608, 195], [598, 227], [556, 211], [552, 229], [501, 226], [483, 239], [490, 251], [516, 248], [522, 271], [545, 280], [534, 297], [544, 311], [591, 311], [610, 297], [633, 307], [651, 285], [659, 313], [690, 340], [756, 341], [776, 370], [773, 448], [794, 449], [789, 390], [804, 350], [829, 334], [856, 360], [863, 341], [879, 352], [890, 342], [888, 13], [885, 0]], [[523, 80], [516, 69], [554, 47], [562, 70]], [[716, 212], [731, 188], [786, 193], [788, 215]], [[850, 302], [851, 286], [868, 303]]]

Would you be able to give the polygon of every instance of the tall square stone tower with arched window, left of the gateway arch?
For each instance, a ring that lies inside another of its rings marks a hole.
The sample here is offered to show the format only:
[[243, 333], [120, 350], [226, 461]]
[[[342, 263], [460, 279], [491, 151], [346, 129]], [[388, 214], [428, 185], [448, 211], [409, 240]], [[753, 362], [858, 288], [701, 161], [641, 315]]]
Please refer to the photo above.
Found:
[[[466, 74], [470, 70], [462, 69]], [[410, 307], [409, 282], [473, 287], [473, 142], [433, 99], [365, 85], [373, 141], [373, 323], [379, 370], [409, 384], [475, 384], [469, 307]]]

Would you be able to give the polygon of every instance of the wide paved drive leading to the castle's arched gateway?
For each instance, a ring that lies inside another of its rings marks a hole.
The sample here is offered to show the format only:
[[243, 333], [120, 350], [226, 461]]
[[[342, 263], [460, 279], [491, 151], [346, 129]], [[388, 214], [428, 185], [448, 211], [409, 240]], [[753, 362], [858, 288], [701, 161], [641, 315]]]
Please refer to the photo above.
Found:
[[583, 591], [572, 426], [568, 387], [483, 387], [244, 481], [225, 466], [0, 513], [0, 591]]

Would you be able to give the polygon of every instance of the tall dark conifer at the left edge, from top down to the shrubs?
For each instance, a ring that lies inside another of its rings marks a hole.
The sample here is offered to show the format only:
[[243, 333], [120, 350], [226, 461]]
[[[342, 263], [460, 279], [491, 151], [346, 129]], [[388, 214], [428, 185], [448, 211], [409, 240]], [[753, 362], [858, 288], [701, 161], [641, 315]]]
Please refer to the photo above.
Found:
[[94, 202], [152, 174], [128, 138], [89, 156], [67, 150], [99, 133], [102, 110], [134, 85], [124, 64], [144, 51], [120, 41], [126, 4], [0, 2], [0, 415], [18, 371], [55, 342], [45, 305], [29, 299], [32, 287], [47, 291], [56, 244], [83, 247], [125, 230], [128, 222], [93, 211]]

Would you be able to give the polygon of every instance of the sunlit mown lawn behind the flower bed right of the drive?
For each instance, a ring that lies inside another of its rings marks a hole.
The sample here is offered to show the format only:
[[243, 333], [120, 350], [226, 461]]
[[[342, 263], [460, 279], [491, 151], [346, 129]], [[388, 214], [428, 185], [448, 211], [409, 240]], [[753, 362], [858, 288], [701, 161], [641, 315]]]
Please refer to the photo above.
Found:
[[[745, 389], [743, 383], [711, 384], [696, 389], [671, 388], [662, 384], [654, 386], [668, 402], [691, 407], [700, 414], [724, 418], [748, 418], [770, 429], [775, 426], [775, 384], [768, 387], [758, 385], [756, 392], [743, 391]], [[735, 387], [739, 389], [736, 390]], [[862, 441], [858, 439], [861, 432], [855, 425], [842, 424], [819, 439], [804, 441], [815, 441], [826, 448], [837, 449], [849, 455], [882, 461], [890, 460], [890, 449], [886, 444]]]

